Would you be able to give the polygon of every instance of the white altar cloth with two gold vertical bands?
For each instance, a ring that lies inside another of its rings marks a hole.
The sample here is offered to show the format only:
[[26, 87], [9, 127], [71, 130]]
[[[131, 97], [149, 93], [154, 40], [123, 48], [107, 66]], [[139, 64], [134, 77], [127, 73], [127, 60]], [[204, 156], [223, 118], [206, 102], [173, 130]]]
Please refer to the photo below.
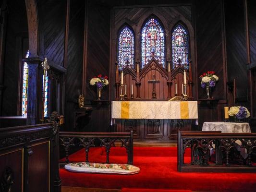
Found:
[[197, 101], [112, 101], [112, 119], [197, 118]]

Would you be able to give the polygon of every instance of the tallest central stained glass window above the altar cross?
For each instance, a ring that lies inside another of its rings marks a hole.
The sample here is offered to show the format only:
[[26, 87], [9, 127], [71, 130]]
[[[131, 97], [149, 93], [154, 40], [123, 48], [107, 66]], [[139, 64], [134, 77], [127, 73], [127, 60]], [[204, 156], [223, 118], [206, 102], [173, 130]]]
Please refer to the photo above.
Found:
[[165, 39], [164, 31], [160, 23], [150, 18], [141, 33], [141, 67], [153, 57], [165, 67]]

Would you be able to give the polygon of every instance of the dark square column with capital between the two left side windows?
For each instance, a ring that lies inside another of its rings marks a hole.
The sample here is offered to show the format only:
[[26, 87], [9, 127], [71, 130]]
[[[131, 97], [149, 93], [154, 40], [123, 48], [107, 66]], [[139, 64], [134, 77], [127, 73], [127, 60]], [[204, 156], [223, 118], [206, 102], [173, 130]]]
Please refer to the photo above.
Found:
[[28, 65], [27, 125], [34, 125], [42, 119], [43, 60], [26, 58], [23, 61]]

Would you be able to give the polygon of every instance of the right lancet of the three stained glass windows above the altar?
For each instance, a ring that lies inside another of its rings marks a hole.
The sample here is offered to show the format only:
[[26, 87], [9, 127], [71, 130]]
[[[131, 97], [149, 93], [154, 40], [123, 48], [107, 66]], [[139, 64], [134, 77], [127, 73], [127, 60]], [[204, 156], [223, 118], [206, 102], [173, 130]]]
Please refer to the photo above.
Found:
[[188, 68], [188, 33], [185, 28], [178, 24], [172, 32], [172, 67], [182, 65]]

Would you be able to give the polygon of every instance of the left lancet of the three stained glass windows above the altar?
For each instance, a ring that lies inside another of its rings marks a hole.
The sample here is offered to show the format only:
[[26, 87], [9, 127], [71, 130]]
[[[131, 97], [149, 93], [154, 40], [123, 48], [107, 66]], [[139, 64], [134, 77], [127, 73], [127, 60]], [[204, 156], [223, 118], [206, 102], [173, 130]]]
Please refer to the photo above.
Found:
[[134, 34], [125, 26], [118, 38], [118, 64], [122, 70], [125, 66], [134, 68]]

